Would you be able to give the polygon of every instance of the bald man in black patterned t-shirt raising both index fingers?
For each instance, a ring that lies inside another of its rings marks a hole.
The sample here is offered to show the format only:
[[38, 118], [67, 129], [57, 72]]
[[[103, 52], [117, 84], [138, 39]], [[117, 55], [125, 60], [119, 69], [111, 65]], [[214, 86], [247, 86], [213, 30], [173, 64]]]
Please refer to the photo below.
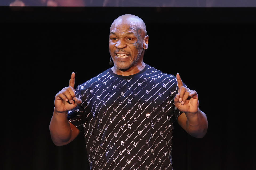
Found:
[[86, 139], [92, 169], [172, 169], [173, 122], [190, 135], [206, 134], [206, 115], [198, 94], [179, 74], [162, 73], [143, 62], [149, 36], [142, 19], [118, 17], [110, 27], [109, 53], [114, 67], [74, 90], [55, 96], [50, 133], [57, 146]]

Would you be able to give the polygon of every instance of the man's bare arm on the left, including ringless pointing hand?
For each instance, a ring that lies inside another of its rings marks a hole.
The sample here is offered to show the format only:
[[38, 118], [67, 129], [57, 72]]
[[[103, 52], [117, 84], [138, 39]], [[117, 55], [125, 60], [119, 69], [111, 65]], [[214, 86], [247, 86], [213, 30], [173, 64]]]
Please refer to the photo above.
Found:
[[57, 146], [62, 146], [73, 141], [79, 134], [79, 130], [67, 120], [67, 111], [74, 109], [82, 100], [75, 97], [75, 73], [69, 80], [69, 87], [63, 88], [56, 94], [54, 110], [49, 125], [51, 139]]

